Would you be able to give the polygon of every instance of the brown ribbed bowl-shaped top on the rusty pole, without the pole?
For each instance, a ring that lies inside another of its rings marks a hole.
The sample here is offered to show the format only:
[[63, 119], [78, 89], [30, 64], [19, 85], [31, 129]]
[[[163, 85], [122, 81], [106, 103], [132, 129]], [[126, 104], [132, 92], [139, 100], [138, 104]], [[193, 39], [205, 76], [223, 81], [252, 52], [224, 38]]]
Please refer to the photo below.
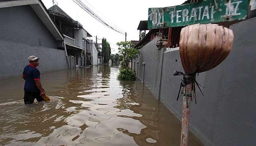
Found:
[[180, 58], [185, 73], [201, 73], [220, 64], [229, 54], [232, 30], [215, 24], [195, 24], [180, 32]]

